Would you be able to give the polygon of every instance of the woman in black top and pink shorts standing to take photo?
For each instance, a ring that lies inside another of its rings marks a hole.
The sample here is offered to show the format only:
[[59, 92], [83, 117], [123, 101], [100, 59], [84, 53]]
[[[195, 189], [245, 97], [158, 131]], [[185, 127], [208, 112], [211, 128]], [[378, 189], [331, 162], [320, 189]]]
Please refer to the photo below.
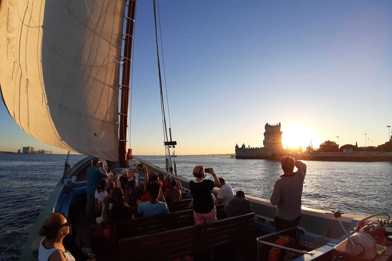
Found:
[[[212, 175], [214, 181], [204, 179], [206, 173]], [[193, 217], [195, 225], [213, 222], [217, 219], [211, 190], [214, 187], [220, 188], [220, 182], [212, 168], [205, 169], [203, 166], [196, 166], [193, 169], [193, 176], [196, 179], [189, 181], [189, 189], [193, 194]]]

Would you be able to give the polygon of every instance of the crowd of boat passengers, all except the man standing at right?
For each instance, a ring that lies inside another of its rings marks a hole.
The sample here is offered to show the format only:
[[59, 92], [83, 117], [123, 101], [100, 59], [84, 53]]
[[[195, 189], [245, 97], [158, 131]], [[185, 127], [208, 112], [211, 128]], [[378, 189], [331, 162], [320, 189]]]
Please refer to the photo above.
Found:
[[[139, 185], [135, 174], [140, 170], [144, 180]], [[210, 175], [213, 180], [206, 179]], [[189, 182], [195, 224], [210, 223], [217, 220], [215, 205], [224, 204], [226, 217], [234, 217], [252, 212], [251, 202], [243, 191], [234, 195], [232, 187], [223, 177], [217, 177], [213, 168], [196, 166], [194, 180]], [[137, 216], [150, 217], [168, 214], [166, 202], [182, 200], [181, 182], [174, 178], [165, 179], [163, 174], [149, 176], [145, 165], [122, 169], [121, 173], [105, 170], [103, 162], [95, 160], [87, 169], [87, 232], [91, 236], [91, 251], [96, 255], [104, 254], [111, 245], [111, 224]], [[214, 188], [220, 188], [213, 192]], [[137, 207], [137, 212], [134, 209]], [[40, 229], [45, 236], [39, 246], [39, 260], [68, 260], [75, 258], [63, 245], [69, 233], [69, 222], [62, 214], [53, 214], [45, 220]], [[67, 247], [68, 248], [68, 247]]]

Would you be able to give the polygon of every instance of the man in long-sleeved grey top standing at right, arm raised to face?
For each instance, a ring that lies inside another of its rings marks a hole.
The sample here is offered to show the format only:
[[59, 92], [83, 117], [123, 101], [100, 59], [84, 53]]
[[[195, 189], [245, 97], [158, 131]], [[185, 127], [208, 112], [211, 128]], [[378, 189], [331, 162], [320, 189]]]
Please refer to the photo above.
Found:
[[[275, 227], [277, 231], [298, 225], [301, 219], [301, 196], [306, 165], [290, 156], [281, 160], [283, 175], [275, 182], [271, 204], [276, 205]], [[294, 167], [298, 168], [297, 172]]]

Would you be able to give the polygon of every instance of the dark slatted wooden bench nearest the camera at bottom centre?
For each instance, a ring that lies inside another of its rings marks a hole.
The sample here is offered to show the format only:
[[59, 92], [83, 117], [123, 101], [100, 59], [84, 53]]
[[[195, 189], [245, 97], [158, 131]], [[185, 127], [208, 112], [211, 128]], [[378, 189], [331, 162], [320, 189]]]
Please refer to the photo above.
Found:
[[171, 260], [236, 243], [246, 251], [253, 240], [255, 213], [174, 230], [123, 238], [116, 244], [117, 261]]

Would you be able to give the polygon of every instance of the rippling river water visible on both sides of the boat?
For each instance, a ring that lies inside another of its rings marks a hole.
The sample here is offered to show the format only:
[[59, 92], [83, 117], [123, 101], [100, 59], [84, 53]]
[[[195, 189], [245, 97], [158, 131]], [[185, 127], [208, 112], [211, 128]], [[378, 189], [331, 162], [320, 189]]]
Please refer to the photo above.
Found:
[[[71, 155], [71, 166], [83, 159]], [[163, 168], [162, 156], [140, 156]], [[18, 260], [30, 229], [62, 176], [65, 155], [0, 154], [0, 261]], [[196, 165], [212, 167], [234, 191], [269, 198], [280, 163], [230, 157], [178, 156], [178, 175], [192, 179]], [[318, 162], [307, 165], [303, 206], [325, 211], [370, 215], [392, 214], [392, 163]]]

